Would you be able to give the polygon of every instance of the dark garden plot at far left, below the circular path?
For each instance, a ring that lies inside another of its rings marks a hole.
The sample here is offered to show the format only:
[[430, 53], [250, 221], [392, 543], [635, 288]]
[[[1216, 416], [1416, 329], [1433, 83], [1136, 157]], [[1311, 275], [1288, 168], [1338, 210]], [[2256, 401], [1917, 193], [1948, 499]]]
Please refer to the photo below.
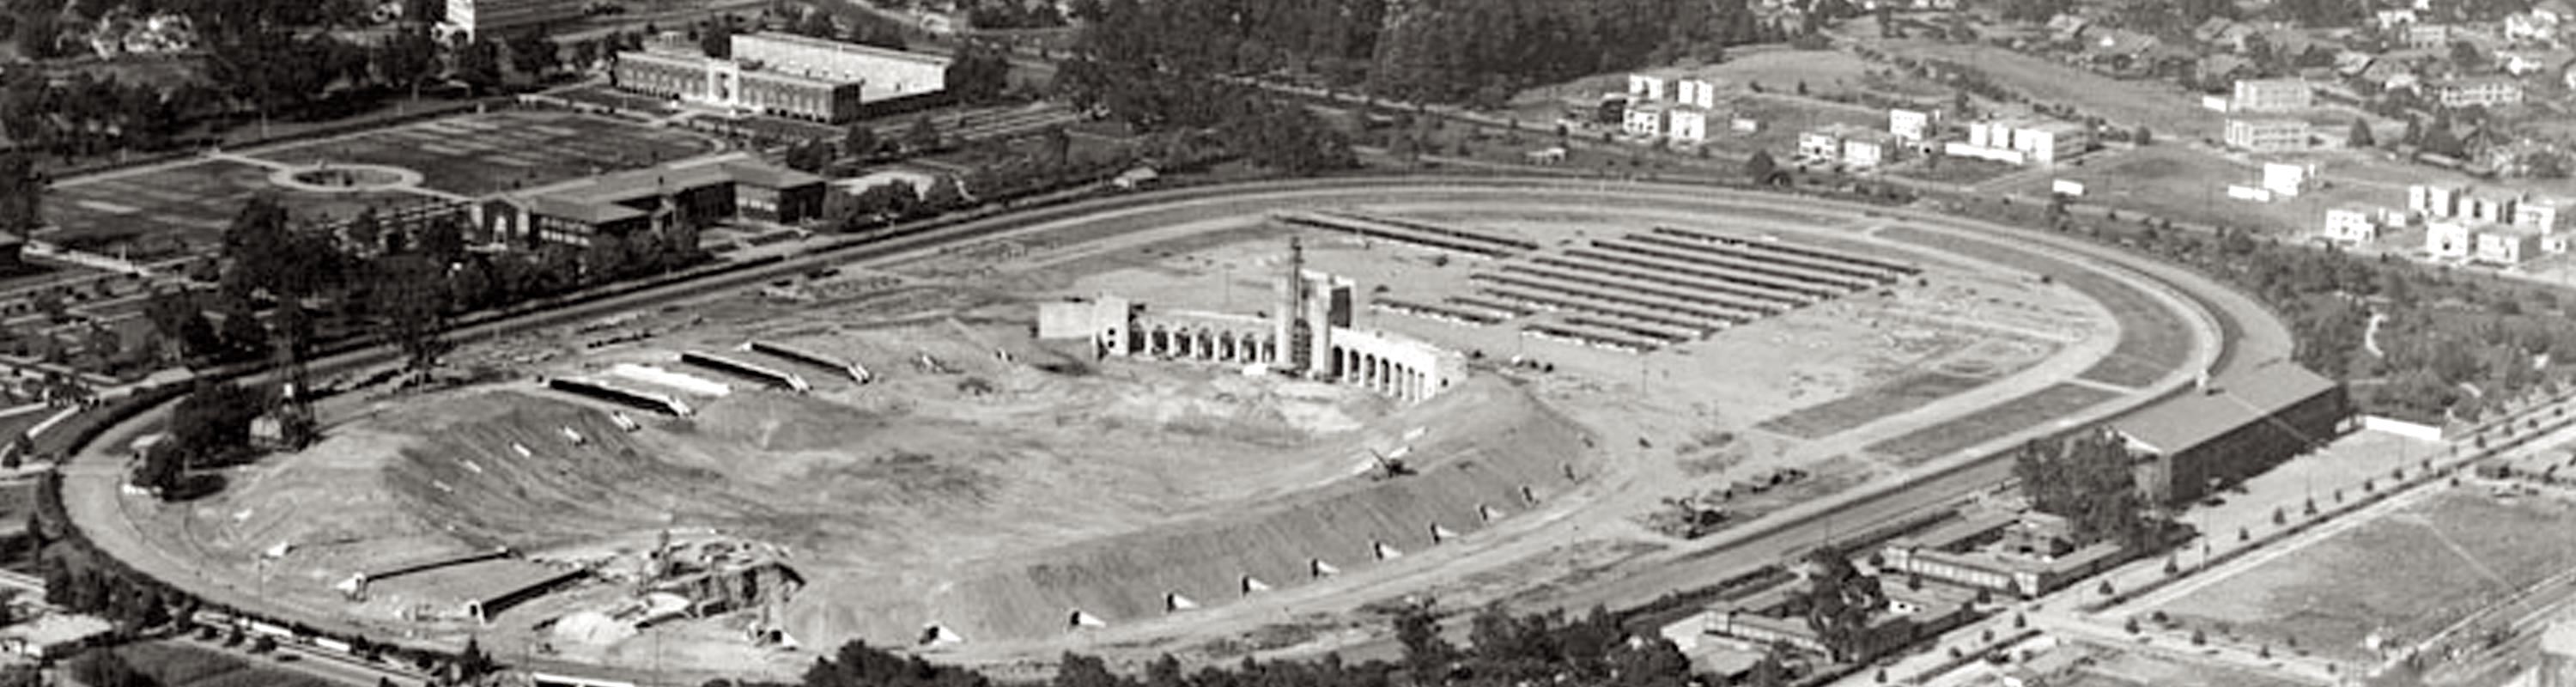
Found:
[[39, 239], [134, 260], [185, 255], [224, 237], [224, 226], [258, 193], [276, 196], [299, 221], [348, 219], [368, 206], [417, 203], [399, 190], [304, 193], [268, 183], [273, 170], [204, 160], [139, 175], [57, 185], [44, 203], [54, 232]]

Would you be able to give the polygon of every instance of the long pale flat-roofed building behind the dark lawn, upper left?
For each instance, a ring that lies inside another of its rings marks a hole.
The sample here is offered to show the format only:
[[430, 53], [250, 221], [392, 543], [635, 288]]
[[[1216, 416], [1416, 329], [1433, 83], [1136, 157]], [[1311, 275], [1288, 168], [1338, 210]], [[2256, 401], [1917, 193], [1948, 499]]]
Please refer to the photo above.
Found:
[[824, 41], [791, 33], [742, 33], [732, 59], [677, 46], [618, 54], [613, 85], [631, 93], [840, 124], [876, 103], [930, 98], [948, 87], [948, 57]]

